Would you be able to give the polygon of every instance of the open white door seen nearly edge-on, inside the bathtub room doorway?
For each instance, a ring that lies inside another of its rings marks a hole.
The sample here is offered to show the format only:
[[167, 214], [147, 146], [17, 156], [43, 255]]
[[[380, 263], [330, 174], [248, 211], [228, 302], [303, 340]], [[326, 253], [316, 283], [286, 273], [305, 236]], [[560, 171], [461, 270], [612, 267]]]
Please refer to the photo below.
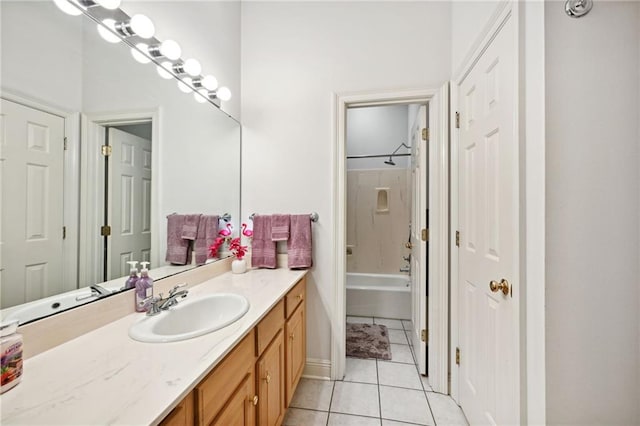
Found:
[[427, 329], [427, 242], [422, 241], [422, 230], [427, 228], [427, 200], [429, 199], [429, 145], [422, 139], [427, 128], [427, 107], [421, 106], [418, 125], [411, 136], [411, 301], [413, 348], [420, 374], [427, 374], [427, 342], [422, 341], [422, 330]]

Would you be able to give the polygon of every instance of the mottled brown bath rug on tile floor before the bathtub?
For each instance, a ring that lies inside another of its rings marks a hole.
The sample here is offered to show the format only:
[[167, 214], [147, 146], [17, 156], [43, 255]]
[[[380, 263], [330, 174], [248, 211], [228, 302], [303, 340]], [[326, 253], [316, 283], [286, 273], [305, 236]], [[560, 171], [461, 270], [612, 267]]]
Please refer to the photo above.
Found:
[[347, 323], [347, 356], [391, 359], [389, 330], [381, 324]]

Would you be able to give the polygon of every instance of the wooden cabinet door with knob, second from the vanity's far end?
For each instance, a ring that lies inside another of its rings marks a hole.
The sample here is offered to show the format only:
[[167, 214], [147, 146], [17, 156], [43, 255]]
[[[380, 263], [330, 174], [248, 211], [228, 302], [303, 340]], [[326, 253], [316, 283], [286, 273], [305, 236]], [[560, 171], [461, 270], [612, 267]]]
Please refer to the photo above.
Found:
[[258, 424], [279, 425], [284, 420], [284, 334], [280, 329], [256, 364]]

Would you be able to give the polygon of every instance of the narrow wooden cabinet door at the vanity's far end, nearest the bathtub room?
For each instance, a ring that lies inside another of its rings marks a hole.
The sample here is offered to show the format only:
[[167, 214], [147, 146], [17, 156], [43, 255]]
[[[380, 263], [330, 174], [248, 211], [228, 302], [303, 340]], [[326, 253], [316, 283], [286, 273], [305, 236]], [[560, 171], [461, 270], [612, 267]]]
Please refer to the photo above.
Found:
[[302, 303], [291, 315], [285, 325], [287, 336], [287, 356], [286, 356], [286, 398], [287, 407], [293, 398], [293, 393], [298, 386], [304, 364], [307, 359], [307, 339], [305, 335], [305, 304]]

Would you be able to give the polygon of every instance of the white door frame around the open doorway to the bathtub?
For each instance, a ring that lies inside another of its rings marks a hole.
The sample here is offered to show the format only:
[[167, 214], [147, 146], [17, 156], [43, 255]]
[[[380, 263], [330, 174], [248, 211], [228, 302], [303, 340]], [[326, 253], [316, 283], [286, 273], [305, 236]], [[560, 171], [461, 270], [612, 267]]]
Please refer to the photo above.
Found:
[[[379, 106], [409, 103], [430, 103], [433, 97], [441, 92], [441, 87], [423, 88], [423, 89], [406, 89], [395, 91], [371, 91], [371, 92], [355, 92], [355, 93], [334, 93], [333, 94], [333, 249], [336, 253], [334, 261], [334, 286], [333, 301], [334, 311], [332, 313], [332, 339], [331, 339], [331, 379], [341, 380], [344, 377], [346, 364], [346, 117], [347, 108], [357, 106]], [[442, 104], [448, 105], [446, 99]], [[448, 112], [443, 110], [439, 112], [442, 115], [443, 122], [448, 121]], [[431, 122], [431, 117], [430, 117]], [[449, 132], [447, 126], [438, 126], [430, 135], [430, 142], [441, 143], [441, 152], [448, 153]], [[441, 172], [443, 175], [436, 177], [430, 182], [431, 188], [438, 188], [441, 193], [448, 194], [448, 156], [444, 156], [444, 164]], [[430, 191], [431, 193], [431, 191]], [[436, 198], [436, 205], [429, 206], [430, 212], [440, 209], [442, 212], [448, 212], [449, 200], [447, 196]], [[431, 214], [430, 214], [431, 216]], [[436, 217], [436, 216], [434, 216]], [[442, 235], [446, 235], [449, 229], [449, 215], [441, 214], [436, 221], [429, 224], [431, 229], [442, 230]], [[438, 231], [436, 231], [438, 232]], [[448, 279], [448, 259], [449, 259], [449, 241], [442, 238], [439, 245], [432, 246], [429, 251], [429, 261], [438, 265], [446, 265], [444, 268], [437, 268], [438, 275], [430, 277], [429, 294], [438, 294], [438, 297], [430, 297], [429, 304], [438, 303], [437, 309], [429, 308], [429, 311], [440, 312], [437, 318], [429, 324], [429, 347], [431, 350], [440, 351], [446, 354], [448, 351], [448, 333], [449, 333], [449, 279]], [[444, 362], [438, 364], [437, 372], [434, 375], [441, 378], [438, 380], [439, 392], [448, 393], [448, 365], [446, 356], [443, 357]], [[435, 390], [435, 388], [434, 388]]]

